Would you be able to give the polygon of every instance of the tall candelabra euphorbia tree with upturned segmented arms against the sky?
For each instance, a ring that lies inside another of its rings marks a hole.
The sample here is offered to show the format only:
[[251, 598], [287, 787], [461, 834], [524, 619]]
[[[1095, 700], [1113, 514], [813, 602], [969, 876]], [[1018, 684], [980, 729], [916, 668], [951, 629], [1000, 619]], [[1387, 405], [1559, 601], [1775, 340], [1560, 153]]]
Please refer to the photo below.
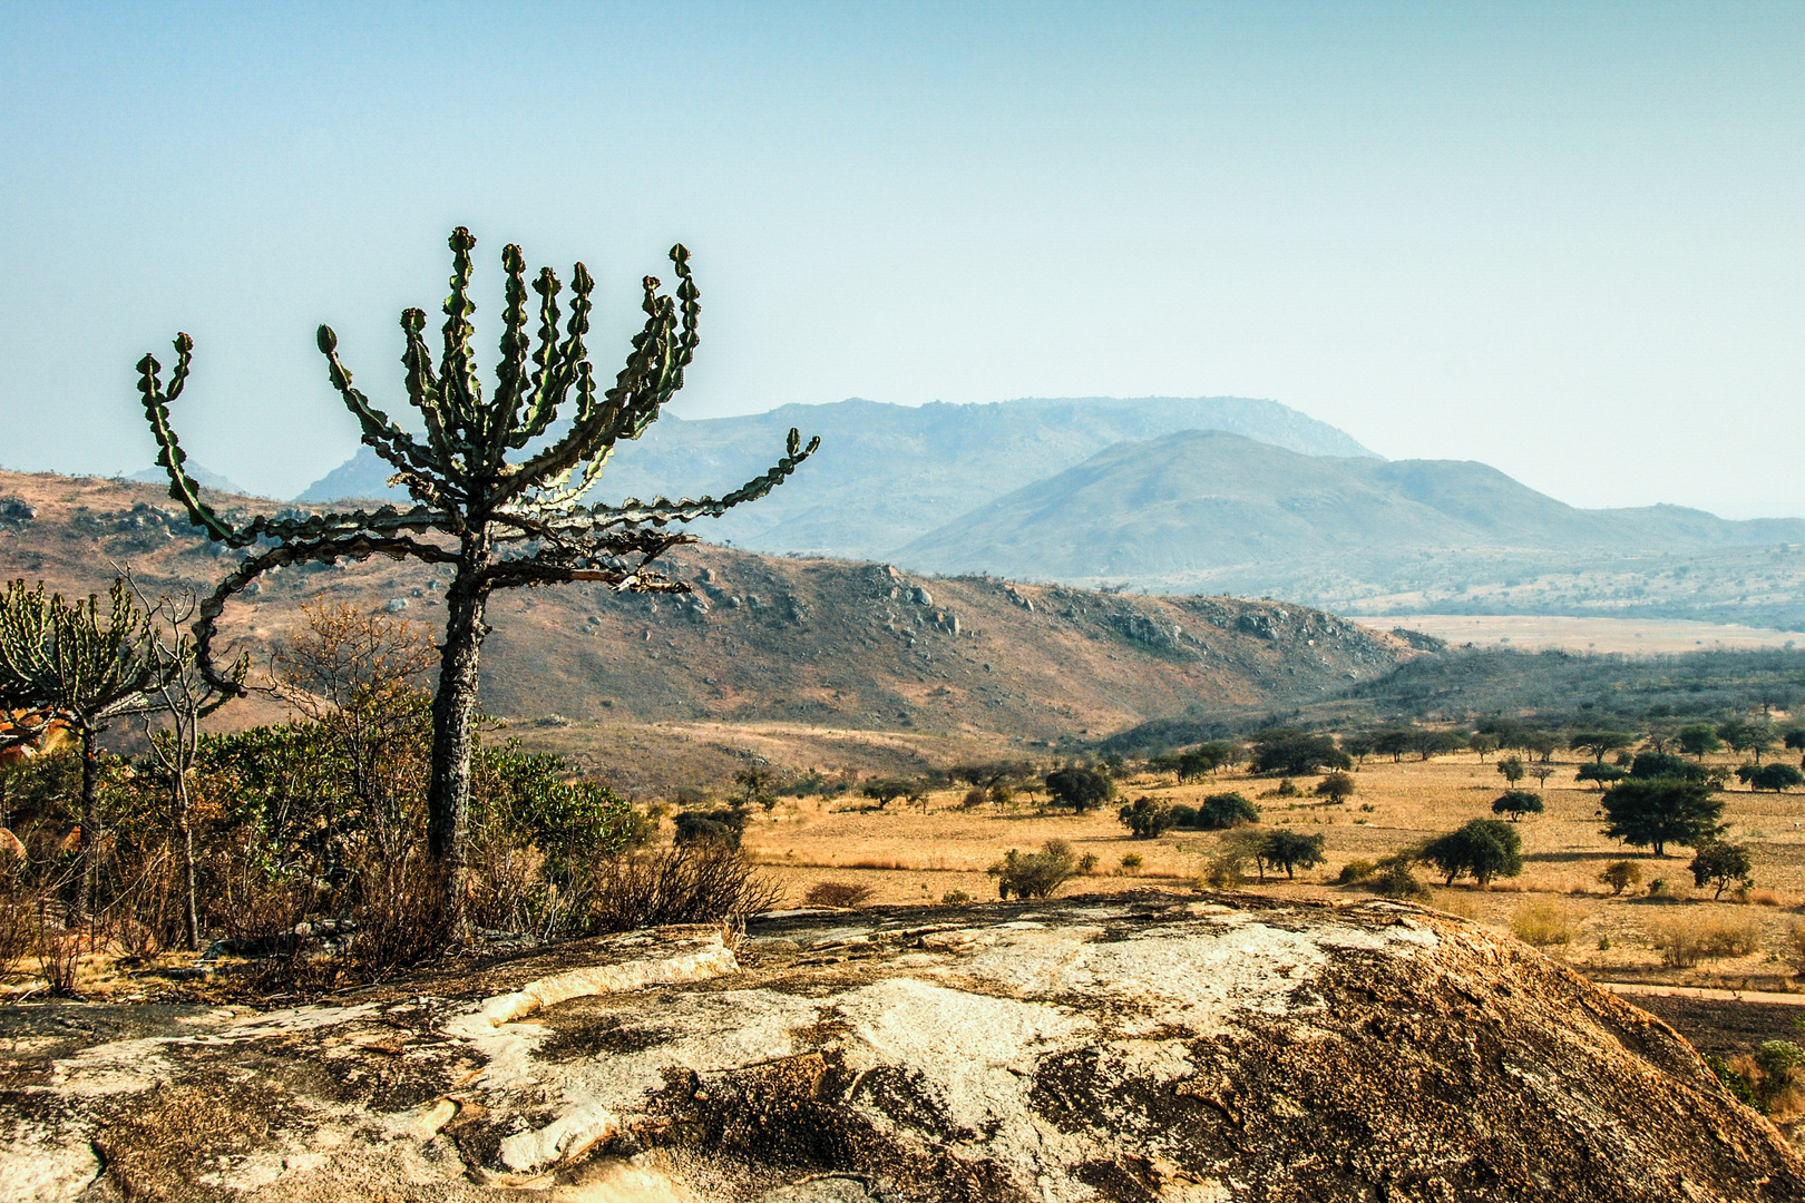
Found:
[[[619, 505], [585, 505], [583, 498], [601, 480], [603, 467], [623, 438], [639, 438], [657, 420], [659, 409], [682, 388], [684, 368], [695, 355], [699, 292], [690, 276], [690, 253], [671, 247], [677, 294], [644, 280], [644, 326], [634, 335], [626, 366], [614, 388], [597, 391], [583, 337], [588, 334], [594, 281], [578, 263], [570, 274], [570, 312], [560, 337], [558, 294], [563, 285], [547, 267], [532, 280], [538, 294], [538, 341], [529, 335], [529, 283], [520, 247], [502, 251], [507, 272], [502, 316], [502, 357], [495, 388], [484, 397], [471, 350], [469, 316], [471, 249], [467, 229], [451, 234], [451, 296], [444, 303], [444, 343], [437, 364], [426, 346], [426, 314], [401, 314], [406, 332], [408, 402], [419, 409], [424, 436], [417, 438], [352, 384], [339, 363], [338, 335], [319, 326], [319, 350], [332, 384], [363, 427], [363, 442], [393, 467], [392, 483], [406, 487], [415, 505], [401, 510], [384, 505], [374, 512], [329, 512], [309, 518], [258, 516], [236, 525], [200, 500], [191, 476], [182, 471], [182, 449], [170, 427], [170, 402], [188, 379], [193, 341], [175, 339], [175, 370], [168, 386], [161, 364], [139, 361], [139, 391], [144, 415], [157, 436], [157, 464], [170, 473], [170, 496], [208, 537], [245, 548], [244, 563], [208, 597], [195, 622], [202, 671], [222, 689], [244, 693], [238, 682], [217, 673], [211, 644], [226, 602], [282, 565], [334, 563], [388, 556], [449, 565], [446, 592], [446, 638], [440, 647], [439, 691], [433, 698], [433, 763], [428, 788], [428, 844], [449, 871], [453, 907], [460, 907], [464, 833], [469, 813], [469, 758], [477, 707], [477, 669], [482, 651], [484, 606], [495, 590], [560, 581], [599, 581], [619, 592], [680, 593], [688, 586], [652, 568], [662, 552], [695, 536], [673, 523], [720, 516], [771, 492], [819, 440], [801, 445], [798, 433], [776, 465], [720, 498], [671, 501], [628, 498]], [[569, 426], [556, 427], [558, 409], [576, 393]], [[536, 445], [536, 451], [529, 447]], [[509, 458], [509, 453], [522, 453]]]

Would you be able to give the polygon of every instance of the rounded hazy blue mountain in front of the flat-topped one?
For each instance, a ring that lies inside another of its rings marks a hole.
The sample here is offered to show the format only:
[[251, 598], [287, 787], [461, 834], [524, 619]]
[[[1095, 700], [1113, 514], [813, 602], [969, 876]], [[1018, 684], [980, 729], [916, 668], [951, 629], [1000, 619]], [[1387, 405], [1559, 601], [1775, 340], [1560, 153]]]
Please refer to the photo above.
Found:
[[[1699, 581], [1680, 588], [1689, 570], [1677, 559], [1765, 561], [1783, 543], [1805, 543], [1805, 519], [1726, 521], [1673, 505], [1581, 510], [1484, 464], [1301, 456], [1186, 431], [1117, 444], [951, 519], [895, 559], [930, 572], [1278, 595], [1341, 610], [1383, 599], [1388, 613], [1428, 610], [1437, 590], [1437, 610], [1466, 597], [1460, 610], [1511, 613], [1513, 588], [1554, 574], [1572, 579], [1560, 597], [1543, 590], [1538, 611], [1689, 613], [1686, 604], [1648, 610], [1657, 601], [1650, 574], [1671, 577], [1670, 597], [1691, 595]], [[1634, 581], [1601, 581], [1612, 572]], [[1785, 588], [1763, 604], [1805, 615], [1798, 581]], [[1754, 604], [1749, 590], [1693, 604], [1706, 601], [1718, 620], [1736, 602]], [[1765, 617], [1776, 617], [1773, 608]]]

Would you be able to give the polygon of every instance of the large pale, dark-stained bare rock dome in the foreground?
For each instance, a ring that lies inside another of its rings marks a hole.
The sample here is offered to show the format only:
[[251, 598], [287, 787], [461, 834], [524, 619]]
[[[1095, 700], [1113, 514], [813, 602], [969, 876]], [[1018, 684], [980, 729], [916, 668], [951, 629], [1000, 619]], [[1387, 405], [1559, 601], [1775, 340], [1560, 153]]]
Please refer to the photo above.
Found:
[[1671, 1028], [1384, 902], [792, 913], [0, 1023], [0, 1199], [1805, 1198]]

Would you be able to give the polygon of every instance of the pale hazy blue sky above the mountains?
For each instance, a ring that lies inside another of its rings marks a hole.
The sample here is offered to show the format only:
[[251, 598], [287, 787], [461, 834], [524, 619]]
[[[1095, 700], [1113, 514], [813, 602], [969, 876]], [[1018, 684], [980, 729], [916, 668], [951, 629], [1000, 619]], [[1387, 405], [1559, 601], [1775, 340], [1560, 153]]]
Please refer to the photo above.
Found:
[[182, 328], [191, 455], [300, 491], [314, 325], [399, 406], [462, 222], [590, 265], [605, 375], [686, 242], [684, 417], [1233, 393], [1805, 514], [1801, 65], [1800, 4], [0, 4], [0, 464], [146, 465]]

